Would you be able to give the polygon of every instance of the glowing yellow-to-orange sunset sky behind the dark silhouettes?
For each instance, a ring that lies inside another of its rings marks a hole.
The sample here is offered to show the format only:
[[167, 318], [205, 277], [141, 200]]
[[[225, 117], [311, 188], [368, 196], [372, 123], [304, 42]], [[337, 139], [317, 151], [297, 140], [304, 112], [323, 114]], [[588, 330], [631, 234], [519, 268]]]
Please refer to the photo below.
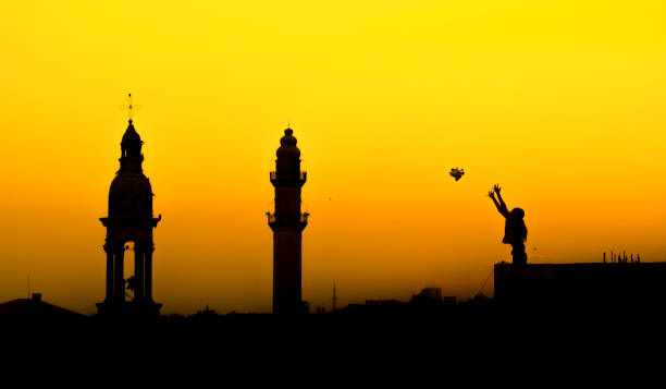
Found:
[[510, 251], [495, 182], [530, 262], [664, 260], [665, 17], [662, 0], [1, 1], [0, 301], [28, 275], [58, 305], [103, 299], [128, 92], [164, 313], [270, 309], [287, 122], [313, 306], [334, 281], [341, 304], [476, 293]]

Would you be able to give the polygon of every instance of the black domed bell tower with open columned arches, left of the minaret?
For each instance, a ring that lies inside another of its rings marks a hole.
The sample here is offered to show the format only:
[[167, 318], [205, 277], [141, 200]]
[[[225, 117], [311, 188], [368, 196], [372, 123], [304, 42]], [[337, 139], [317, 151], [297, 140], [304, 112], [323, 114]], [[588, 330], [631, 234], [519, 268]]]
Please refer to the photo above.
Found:
[[[121, 142], [120, 170], [109, 190], [109, 216], [99, 219], [107, 228], [106, 299], [97, 304], [100, 315], [159, 315], [152, 301], [152, 229], [162, 218], [152, 217], [152, 189], [144, 174], [139, 134], [132, 119]], [[134, 276], [124, 279], [124, 255], [134, 243]], [[125, 282], [127, 281], [127, 288]], [[127, 295], [127, 290], [133, 295]], [[130, 299], [126, 299], [130, 297]]]

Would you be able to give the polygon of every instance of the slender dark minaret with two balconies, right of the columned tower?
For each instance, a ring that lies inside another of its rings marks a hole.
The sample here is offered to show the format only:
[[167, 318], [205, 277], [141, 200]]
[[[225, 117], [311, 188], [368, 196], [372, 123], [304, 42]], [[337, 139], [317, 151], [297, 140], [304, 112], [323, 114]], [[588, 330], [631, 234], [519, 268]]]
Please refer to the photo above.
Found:
[[301, 232], [308, 214], [300, 212], [300, 187], [307, 174], [300, 171], [300, 150], [294, 131], [286, 129], [280, 139], [275, 171], [270, 174], [275, 186], [274, 212], [267, 212], [273, 230], [273, 313], [306, 313], [300, 295]]

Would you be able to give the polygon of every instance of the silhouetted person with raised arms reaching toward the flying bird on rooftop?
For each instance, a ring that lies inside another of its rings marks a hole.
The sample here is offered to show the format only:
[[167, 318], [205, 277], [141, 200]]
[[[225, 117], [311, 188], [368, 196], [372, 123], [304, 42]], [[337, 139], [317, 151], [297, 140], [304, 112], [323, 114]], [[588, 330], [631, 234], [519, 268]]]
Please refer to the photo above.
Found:
[[[504, 239], [502, 243], [511, 245], [511, 255], [514, 265], [527, 265], [527, 253], [525, 252], [525, 241], [527, 240], [527, 227], [525, 226], [525, 210], [514, 208], [510, 212], [506, 208], [506, 204], [499, 192], [502, 187], [495, 184], [493, 190], [488, 192], [488, 196], [495, 203], [495, 207], [504, 218]], [[495, 198], [497, 195], [497, 198]]]

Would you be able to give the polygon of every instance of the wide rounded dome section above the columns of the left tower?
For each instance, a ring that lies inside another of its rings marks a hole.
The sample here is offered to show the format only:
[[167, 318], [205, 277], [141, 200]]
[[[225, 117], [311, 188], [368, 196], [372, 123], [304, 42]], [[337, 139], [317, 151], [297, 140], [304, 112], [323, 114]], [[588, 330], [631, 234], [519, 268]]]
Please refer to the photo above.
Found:
[[152, 187], [141, 172], [120, 172], [109, 190], [109, 216], [152, 217]]

